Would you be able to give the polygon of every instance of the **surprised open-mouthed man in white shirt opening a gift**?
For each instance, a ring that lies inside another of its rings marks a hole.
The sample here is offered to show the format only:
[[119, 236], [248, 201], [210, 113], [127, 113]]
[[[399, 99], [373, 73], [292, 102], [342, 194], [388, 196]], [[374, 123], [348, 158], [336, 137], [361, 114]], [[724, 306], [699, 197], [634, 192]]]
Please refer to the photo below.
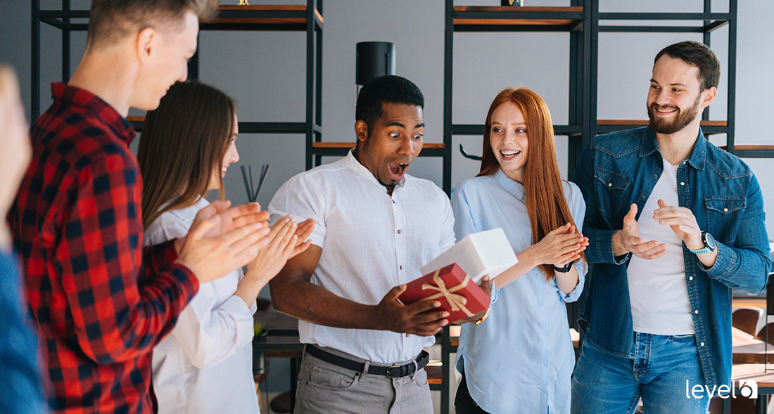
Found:
[[317, 223], [310, 248], [269, 285], [307, 344], [296, 414], [433, 412], [422, 348], [449, 314], [437, 301], [397, 299], [454, 245], [446, 194], [406, 174], [422, 149], [423, 107], [409, 80], [371, 80], [358, 96], [355, 149], [294, 176], [269, 204], [273, 218]]

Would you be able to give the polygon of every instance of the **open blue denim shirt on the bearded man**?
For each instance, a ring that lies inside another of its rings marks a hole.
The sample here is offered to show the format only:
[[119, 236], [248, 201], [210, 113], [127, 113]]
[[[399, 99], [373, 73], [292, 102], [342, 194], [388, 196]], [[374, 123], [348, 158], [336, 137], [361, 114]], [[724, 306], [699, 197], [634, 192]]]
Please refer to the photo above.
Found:
[[[587, 298], [580, 312], [586, 340], [632, 358], [632, 308], [626, 269], [631, 253], [614, 257], [612, 237], [629, 206], [642, 214], [663, 171], [656, 134], [648, 126], [598, 135], [581, 153], [574, 182], [586, 200], [589, 240]], [[717, 241], [717, 259], [704, 267], [683, 243], [685, 278], [704, 381], [731, 382], [731, 288], [760, 292], [769, 275], [769, 238], [763, 198], [752, 171], [699, 132], [690, 156], [677, 169], [680, 207], [689, 208], [702, 231]], [[650, 214], [650, 212], [648, 212]]]

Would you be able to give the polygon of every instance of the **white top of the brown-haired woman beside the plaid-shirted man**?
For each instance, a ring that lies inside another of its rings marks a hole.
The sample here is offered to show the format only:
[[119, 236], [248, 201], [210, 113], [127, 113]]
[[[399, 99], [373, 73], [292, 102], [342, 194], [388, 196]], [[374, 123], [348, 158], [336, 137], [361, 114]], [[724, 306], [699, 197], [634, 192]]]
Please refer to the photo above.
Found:
[[[167, 211], [145, 234], [145, 244], [188, 234], [201, 199], [191, 207]], [[234, 296], [241, 269], [203, 283], [172, 333], [153, 348], [153, 391], [159, 414], [245, 414], [259, 412], [252, 380], [255, 303], [248, 308]]]

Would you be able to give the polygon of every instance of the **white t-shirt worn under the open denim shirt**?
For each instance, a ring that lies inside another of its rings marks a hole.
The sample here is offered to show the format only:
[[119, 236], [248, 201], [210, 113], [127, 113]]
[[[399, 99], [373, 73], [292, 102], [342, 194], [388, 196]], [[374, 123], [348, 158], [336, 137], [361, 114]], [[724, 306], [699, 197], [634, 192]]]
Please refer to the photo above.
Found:
[[694, 334], [694, 319], [685, 281], [683, 241], [668, 225], [659, 224], [653, 211], [658, 201], [680, 205], [677, 200], [677, 166], [663, 160], [664, 170], [639, 216], [639, 235], [645, 241], [666, 244], [666, 255], [646, 260], [632, 255], [627, 277], [635, 332], [656, 335]]

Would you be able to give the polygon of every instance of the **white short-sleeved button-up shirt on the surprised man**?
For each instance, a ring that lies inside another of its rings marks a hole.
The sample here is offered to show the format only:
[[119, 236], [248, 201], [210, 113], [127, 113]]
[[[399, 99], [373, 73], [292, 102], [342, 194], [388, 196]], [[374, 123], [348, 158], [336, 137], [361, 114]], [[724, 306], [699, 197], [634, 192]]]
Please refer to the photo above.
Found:
[[[434, 183], [406, 175], [392, 191], [354, 158], [300, 173], [269, 204], [272, 221], [313, 218], [323, 248], [311, 282], [346, 299], [376, 305], [392, 287], [419, 278], [420, 267], [454, 245], [449, 199]], [[434, 337], [299, 322], [301, 342], [372, 362], [409, 361]]]

